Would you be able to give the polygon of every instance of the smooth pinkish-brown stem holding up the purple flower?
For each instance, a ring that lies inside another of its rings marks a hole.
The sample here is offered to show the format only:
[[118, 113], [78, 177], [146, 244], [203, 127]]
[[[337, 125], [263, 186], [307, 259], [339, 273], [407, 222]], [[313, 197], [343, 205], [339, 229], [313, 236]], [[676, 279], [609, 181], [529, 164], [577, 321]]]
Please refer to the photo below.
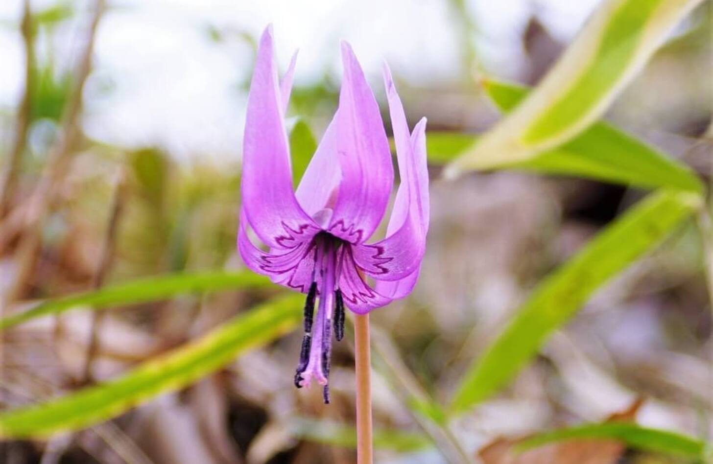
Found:
[[371, 354], [369, 314], [354, 314], [354, 359], [356, 368], [356, 462], [371, 464]]

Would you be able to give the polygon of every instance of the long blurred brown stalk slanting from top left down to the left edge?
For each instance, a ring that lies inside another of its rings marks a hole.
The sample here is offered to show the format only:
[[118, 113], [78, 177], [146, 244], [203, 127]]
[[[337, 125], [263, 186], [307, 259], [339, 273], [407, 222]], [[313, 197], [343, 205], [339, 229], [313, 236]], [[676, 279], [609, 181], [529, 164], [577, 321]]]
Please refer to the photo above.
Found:
[[29, 205], [23, 206], [25, 210], [25, 234], [17, 252], [18, 267], [16, 277], [14, 284], [6, 294], [6, 304], [22, 296], [29, 279], [34, 273], [36, 260], [41, 249], [41, 230], [44, 217], [55, 197], [56, 185], [66, 174], [73, 147], [78, 142], [81, 134], [82, 91], [91, 71], [96, 31], [105, 9], [106, 0], [96, 0], [91, 26], [87, 33], [86, 48], [78, 64], [76, 85], [63, 114], [61, 130], [58, 131], [56, 143], [49, 153], [48, 163], [42, 173], [41, 180], [31, 195]]

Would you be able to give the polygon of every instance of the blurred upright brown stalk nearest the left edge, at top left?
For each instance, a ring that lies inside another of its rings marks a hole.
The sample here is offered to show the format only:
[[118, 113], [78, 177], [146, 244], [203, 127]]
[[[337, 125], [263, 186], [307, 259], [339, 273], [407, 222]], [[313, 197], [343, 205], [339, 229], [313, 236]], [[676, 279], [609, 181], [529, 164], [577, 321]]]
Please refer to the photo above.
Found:
[[32, 10], [30, 0], [24, 1], [22, 23], [20, 26], [22, 41], [25, 48], [25, 91], [20, 100], [15, 125], [15, 139], [10, 149], [9, 164], [5, 171], [4, 179], [0, 185], [0, 218], [5, 215], [15, 196], [15, 187], [20, 172], [20, 162], [27, 143], [27, 130], [30, 125], [30, 111], [32, 107], [32, 88], [34, 86], [35, 45], [32, 31]]

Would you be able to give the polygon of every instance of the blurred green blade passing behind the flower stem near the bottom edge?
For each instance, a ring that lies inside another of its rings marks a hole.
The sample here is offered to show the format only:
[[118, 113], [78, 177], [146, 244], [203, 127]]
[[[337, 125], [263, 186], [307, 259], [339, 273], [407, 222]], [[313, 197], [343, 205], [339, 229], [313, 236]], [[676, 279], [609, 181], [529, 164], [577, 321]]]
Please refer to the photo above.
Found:
[[[336, 421], [295, 418], [289, 421], [292, 435], [325, 445], [356, 448], [356, 428]], [[374, 429], [374, 448], [399, 453], [419, 451], [433, 445], [424, 435], [391, 429]]]

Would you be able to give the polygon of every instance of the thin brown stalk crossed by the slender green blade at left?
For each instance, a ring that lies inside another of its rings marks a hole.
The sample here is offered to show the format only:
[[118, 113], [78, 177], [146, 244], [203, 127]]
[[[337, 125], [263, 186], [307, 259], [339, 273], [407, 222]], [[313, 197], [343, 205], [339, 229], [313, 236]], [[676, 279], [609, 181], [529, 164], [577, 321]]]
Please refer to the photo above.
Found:
[[[125, 185], [125, 175], [122, 171], [119, 173], [116, 180], [111, 211], [109, 212], [109, 221], [104, 234], [103, 243], [101, 245], [101, 255], [96, 272], [92, 278], [91, 288], [94, 290], [101, 288], [104, 284], [106, 273], [109, 269], [111, 269], [111, 264], [114, 258], [114, 250], [116, 249], [116, 231], [118, 229], [126, 197]], [[92, 381], [92, 366], [99, 347], [99, 331], [104, 319], [104, 314], [104, 311], [91, 311], [91, 335], [89, 338], [89, 345], [87, 347], [82, 383]]]

